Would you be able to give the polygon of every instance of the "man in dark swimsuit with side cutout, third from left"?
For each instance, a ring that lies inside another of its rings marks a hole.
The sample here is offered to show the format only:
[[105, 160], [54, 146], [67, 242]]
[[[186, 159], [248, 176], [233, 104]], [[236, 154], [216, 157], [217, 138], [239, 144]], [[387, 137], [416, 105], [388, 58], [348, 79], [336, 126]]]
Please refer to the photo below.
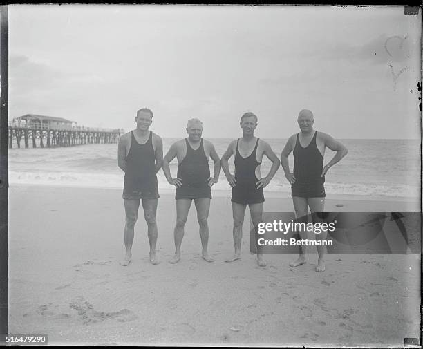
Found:
[[[250, 207], [250, 216], [254, 227], [261, 223], [263, 202], [265, 200], [263, 188], [272, 180], [280, 165], [279, 159], [270, 148], [270, 145], [254, 137], [254, 130], [257, 127], [257, 117], [254, 113], [245, 113], [241, 117], [240, 126], [243, 130], [243, 137], [229, 144], [221, 160], [223, 172], [225, 172], [227, 181], [232, 187], [232, 215], [234, 218], [235, 252], [226, 262], [233, 262], [241, 258], [243, 222], [247, 205]], [[228, 160], [232, 155], [235, 156], [234, 175], [230, 173], [228, 164]], [[269, 174], [262, 178], [260, 165], [263, 155], [266, 155], [272, 161], [272, 167]], [[257, 253], [257, 263], [261, 267], [267, 265], [263, 254]]]

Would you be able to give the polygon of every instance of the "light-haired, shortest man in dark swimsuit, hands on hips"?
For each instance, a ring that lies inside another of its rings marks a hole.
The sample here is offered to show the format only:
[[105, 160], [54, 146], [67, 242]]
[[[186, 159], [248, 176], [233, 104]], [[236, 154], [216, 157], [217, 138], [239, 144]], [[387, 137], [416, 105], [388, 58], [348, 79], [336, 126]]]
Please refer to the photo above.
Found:
[[[179, 140], [171, 145], [163, 159], [163, 172], [167, 181], [176, 187], [176, 226], [174, 230], [175, 256], [170, 263], [180, 260], [180, 245], [184, 237], [184, 227], [187, 222], [191, 202], [197, 209], [198, 225], [200, 225], [200, 238], [203, 247], [201, 256], [207, 262], [213, 258], [207, 252], [209, 242], [209, 217], [211, 187], [218, 182], [220, 173], [220, 159], [214, 145], [208, 140], [203, 140], [203, 123], [198, 119], [191, 119], [187, 124], [188, 138]], [[169, 162], [178, 158], [178, 174], [172, 178]], [[210, 177], [209, 158], [214, 161], [214, 176]]]

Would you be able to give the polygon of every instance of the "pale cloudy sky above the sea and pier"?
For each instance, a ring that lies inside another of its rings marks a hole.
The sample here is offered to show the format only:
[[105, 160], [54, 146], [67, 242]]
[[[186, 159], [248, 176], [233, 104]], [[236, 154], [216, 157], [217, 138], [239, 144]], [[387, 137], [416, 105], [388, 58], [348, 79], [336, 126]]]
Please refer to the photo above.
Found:
[[[238, 138], [420, 138], [421, 11], [402, 6], [9, 6], [9, 119]], [[400, 74], [400, 71], [402, 73]], [[394, 84], [395, 83], [395, 84]]]

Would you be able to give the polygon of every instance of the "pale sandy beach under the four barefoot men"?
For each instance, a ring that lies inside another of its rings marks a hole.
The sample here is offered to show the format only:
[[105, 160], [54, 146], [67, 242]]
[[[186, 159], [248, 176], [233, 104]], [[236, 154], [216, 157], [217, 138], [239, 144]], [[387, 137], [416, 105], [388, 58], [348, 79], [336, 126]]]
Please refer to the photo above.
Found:
[[[188, 346], [403, 346], [420, 337], [420, 254], [329, 254], [289, 267], [293, 254], [267, 254], [259, 267], [233, 252], [227, 193], [214, 193], [209, 252], [191, 207], [182, 259], [173, 256], [175, 200], [160, 192], [159, 265], [148, 259], [142, 210], [133, 261], [124, 255], [118, 189], [12, 185], [9, 191], [9, 330], [48, 334], [50, 344]], [[265, 211], [292, 211], [287, 195], [265, 194]], [[411, 199], [330, 196], [326, 211], [420, 211]]]

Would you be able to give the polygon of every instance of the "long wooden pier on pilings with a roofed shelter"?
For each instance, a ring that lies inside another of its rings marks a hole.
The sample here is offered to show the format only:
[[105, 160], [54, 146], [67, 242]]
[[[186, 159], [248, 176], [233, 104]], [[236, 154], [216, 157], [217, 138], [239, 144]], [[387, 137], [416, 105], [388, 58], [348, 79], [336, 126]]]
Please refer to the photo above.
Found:
[[14, 143], [18, 148], [41, 148], [71, 147], [80, 144], [108, 144], [117, 143], [122, 129], [94, 129], [74, 127], [73, 129], [52, 129], [48, 126], [22, 127], [9, 123], [9, 149]]

